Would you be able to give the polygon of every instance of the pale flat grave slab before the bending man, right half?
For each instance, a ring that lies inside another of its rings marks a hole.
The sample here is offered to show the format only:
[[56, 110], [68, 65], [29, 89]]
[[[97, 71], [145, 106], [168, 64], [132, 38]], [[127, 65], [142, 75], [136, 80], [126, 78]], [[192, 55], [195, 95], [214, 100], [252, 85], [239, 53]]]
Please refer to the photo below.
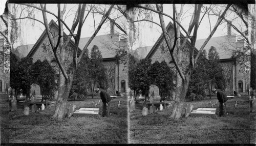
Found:
[[214, 116], [216, 113], [216, 108], [198, 108], [193, 110], [190, 115], [192, 116]]

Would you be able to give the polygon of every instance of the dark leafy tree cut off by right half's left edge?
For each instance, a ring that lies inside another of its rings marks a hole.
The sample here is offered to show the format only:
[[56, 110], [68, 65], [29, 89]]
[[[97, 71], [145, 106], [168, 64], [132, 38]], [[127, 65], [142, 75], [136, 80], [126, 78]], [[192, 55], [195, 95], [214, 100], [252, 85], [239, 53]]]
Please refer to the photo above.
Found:
[[135, 100], [137, 97], [136, 93], [139, 91], [138, 76], [136, 75], [137, 63], [138, 63], [138, 60], [134, 57], [134, 55], [129, 54], [128, 86], [130, 87], [131, 90], [133, 90]]

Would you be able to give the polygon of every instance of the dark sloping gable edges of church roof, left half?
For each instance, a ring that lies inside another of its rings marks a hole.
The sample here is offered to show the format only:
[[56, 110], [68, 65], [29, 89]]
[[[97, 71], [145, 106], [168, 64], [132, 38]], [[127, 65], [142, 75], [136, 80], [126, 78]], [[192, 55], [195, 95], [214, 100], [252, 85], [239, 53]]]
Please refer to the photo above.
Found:
[[[58, 25], [53, 21], [53, 20], [51, 20], [50, 21], [50, 23], [49, 23], [49, 27], [51, 28], [51, 27], [56, 27], [57, 28], [57, 30], [58, 30]], [[30, 50], [30, 52], [28, 53], [28, 57], [31, 57], [35, 52], [36, 52], [36, 50], [39, 48], [39, 46], [40, 46], [40, 44], [44, 41], [42, 38], [44, 38], [45, 36], [46, 36], [47, 34], [46, 34], [46, 30], [41, 34], [41, 36], [39, 37], [39, 39], [36, 41], [36, 43], [35, 43], [35, 45], [32, 47], [32, 49]], [[65, 33], [63, 33], [63, 35], [64, 36], [67, 36]], [[71, 44], [73, 45], [73, 46], [75, 46], [74, 44], [74, 41], [73, 40], [71, 40], [70, 41], [71, 42]], [[78, 47], [78, 52], [81, 52], [81, 49]]]

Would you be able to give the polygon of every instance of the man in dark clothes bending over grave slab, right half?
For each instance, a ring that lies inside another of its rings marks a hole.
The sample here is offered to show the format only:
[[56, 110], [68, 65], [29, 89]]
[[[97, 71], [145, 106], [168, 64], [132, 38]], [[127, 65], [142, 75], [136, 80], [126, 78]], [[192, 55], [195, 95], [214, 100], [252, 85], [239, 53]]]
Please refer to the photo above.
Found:
[[223, 113], [223, 106], [225, 106], [225, 108], [226, 108], [228, 98], [225, 95], [225, 93], [223, 93], [222, 91], [217, 91], [216, 89], [213, 89], [212, 93], [217, 94], [217, 98], [218, 98], [219, 103], [220, 103], [220, 106], [219, 106], [219, 109], [220, 109], [219, 116], [222, 116], [222, 115], [224, 115], [224, 113]]

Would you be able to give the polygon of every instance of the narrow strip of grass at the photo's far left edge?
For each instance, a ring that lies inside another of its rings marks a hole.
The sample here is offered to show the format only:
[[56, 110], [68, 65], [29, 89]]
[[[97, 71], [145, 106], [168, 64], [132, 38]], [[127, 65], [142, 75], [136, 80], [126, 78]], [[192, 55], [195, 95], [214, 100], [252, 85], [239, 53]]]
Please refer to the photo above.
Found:
[[9, 142], [9, 103], [8, 95], [0, 94], [0, 127], [1, 127], [1, 145]]

